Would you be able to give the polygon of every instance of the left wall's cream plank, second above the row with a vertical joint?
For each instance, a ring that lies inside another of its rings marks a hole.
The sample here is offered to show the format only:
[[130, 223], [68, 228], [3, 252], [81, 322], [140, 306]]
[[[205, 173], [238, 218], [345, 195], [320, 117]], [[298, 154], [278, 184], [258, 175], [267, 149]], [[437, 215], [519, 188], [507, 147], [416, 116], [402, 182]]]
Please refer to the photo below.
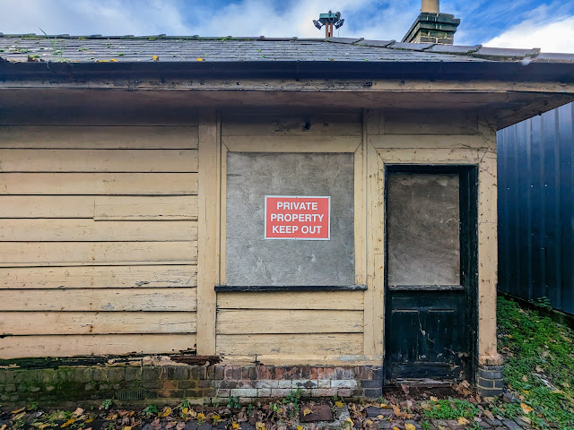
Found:
[[196, 172], [197, 150], [2, 150], [3, 172]]

